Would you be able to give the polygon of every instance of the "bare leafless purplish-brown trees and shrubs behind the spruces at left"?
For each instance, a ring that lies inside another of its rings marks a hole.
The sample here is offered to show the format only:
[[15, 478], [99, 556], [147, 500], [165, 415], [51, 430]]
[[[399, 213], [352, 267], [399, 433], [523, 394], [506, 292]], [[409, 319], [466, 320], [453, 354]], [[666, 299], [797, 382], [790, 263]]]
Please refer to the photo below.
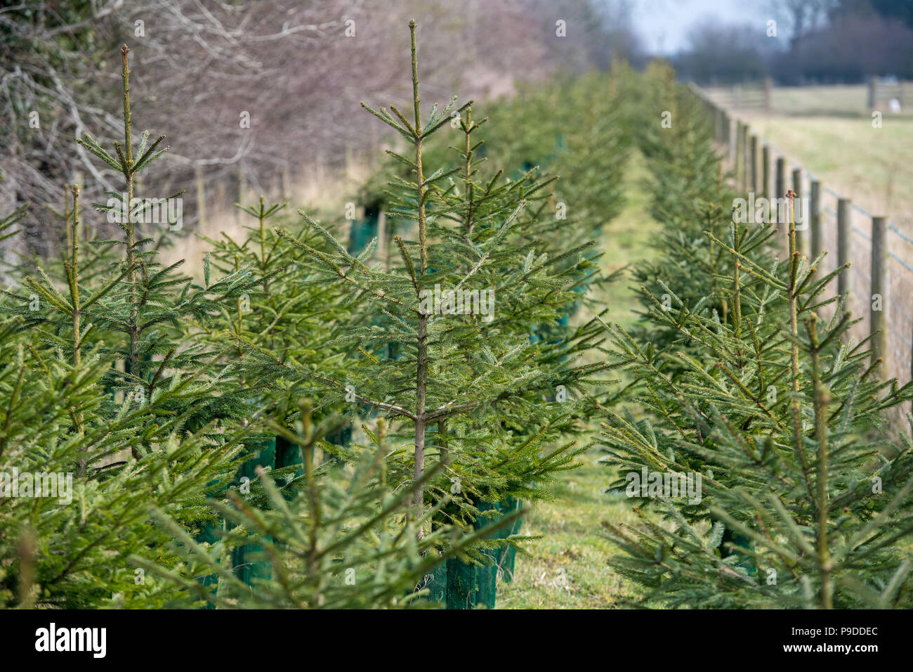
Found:
[[[62, 10], [60, 7], [66, 6]], [[359, 102], [409, 100], [402, 27], [421, 26], [426, 95], [446, 101], [509, 91], [515, 79], [584, 69], [605, 58], [603, 9], [563, 2], [585, 39], [556, 41], [555, 15], [540, 0], [84, 0], [0, 9], [0, 190], [4, 204], [31, 200], [28, 228], [49, 249], [41, 219], [63, 201], [63, 185], [85, 183], [100, 199], [116, 183], [73, 141], [121, 135], [113, 112], [121, 86], [113, 67], [130, 45], [134, 123], [171, 148], [140, 196], [238, 181], [265, 189], [283, 174], [382, 140]], [[29, 126], [38, 112], [37, 128]], [[34, 116], [34, 115], [33, 115]], [[248, 123], [249, 121], [249, 123]], [[156, 193], [143, 193], [154, 188]], [[187, 194], [185, 221], [193, 221]], [[9, 207], [5, 209], [10, 209]]]

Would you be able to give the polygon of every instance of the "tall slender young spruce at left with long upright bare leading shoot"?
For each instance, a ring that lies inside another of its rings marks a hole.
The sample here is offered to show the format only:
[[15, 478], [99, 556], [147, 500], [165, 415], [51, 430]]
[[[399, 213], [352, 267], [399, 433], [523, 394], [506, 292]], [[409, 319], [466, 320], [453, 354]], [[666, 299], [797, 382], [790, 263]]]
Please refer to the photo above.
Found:
[[124, 141], [122, 145], [114, 143], [116, 158], [88, 133], [79, 140], [93, 155], [118, 170], [125, 187], [121, 194], [110, 193], [107, 205], [96, 204], [96, 208], [107, 213], [123, 232], [122, 240], [101, 243], [122, 250], [120, 272], [125, 274], [127, 282], [116, 282], [113, 280], [115, 274], [112, 274], [104, 285], [105, 293], [100, 295], [94, 315], [87, 315], [87, 319], [102, 334], [110, 333], [110, 336], [105, 334], [105, 342], [111, 344], [112, 353], [123, 362], [122, 372], [110, 372], [109, 382], [113, 389], [132, 392], [134, 400], [142, 403], [153, 399], [160, 390], [173, 387], [184, 376], [205, 375], [208, 379], [205, 389], [199, 389], [198, 394], [184, 392], [175, 396], [169, 410], [187, 415], [187, 426], [194, 429], [214, 420], [244, 420], [248, 413], [247, 390], [219, 385], [220, 378], [225, 375], [225, 369], [219, 365], [220, 351], [226, 348], [211, 350], [204, 343], [188, 342], [186, 332], [189, 322], [206, 324], [226, 304], [234, 304], [242, 295], [254, 291], [256, 283], [251, 272], [239, 271], [215, 283], [210, 283], [209, 273], [205, 272], [204, 285], [196, 284], [191, 278], [178, 274], [184, 260], [163, 267], [156, 260], [155, 239], [143, 237], [143, 222], [150, 220], [159, 227], [167, 224], [168, 235], [181, 228], [181, 222], [157, 220], [162, 219], [166, 211], [164, 204], [173, 202], [183, 192], [160, 199], [158, 205], [136, 193], [137, 177], [161, 157], [167, 147], [159, 149], [164, 136], [150, 143], [146, 131], [134, 151], [128, 52], [124, 45], [121, 49]]

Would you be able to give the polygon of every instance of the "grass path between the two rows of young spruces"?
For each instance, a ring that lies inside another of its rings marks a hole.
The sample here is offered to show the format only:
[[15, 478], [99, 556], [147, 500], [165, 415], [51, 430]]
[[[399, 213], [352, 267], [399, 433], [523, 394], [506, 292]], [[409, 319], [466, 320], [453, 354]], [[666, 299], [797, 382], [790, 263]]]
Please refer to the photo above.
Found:
[[[625, 171], [627, 201], [624, 210], [603, 229], [603, 271], [614, 272], [642, 259], [659, 224], [647, 213], [645, 160], [632, 150]], [[608, 318], [625, 327], [637, 321], [632, 310], [635, 289], [627, 277], [612, 283], [599, 304], [610, 309]], [[530, 507], [521, 534], [542, 535], [517, 554], [514, 581], [498, 584], [499, 609], [605, 609], [621, 606], [638, 596], [635, 584], [606, 564], [618, 549], [603, 535], [601, 523], [635, 523], [624, 496], [603, 491], [612, 480], [610, 468], [598, 464], [598, 452], [582, 455], [582, 465], [565, 472], [551, 485], [553, 499]]]

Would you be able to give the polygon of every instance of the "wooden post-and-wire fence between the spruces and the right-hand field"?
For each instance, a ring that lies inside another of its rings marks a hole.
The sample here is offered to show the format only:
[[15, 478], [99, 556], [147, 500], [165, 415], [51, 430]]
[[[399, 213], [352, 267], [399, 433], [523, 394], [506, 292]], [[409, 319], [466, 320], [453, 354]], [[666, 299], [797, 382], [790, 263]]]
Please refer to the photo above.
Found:
[[[808, 197], [810, 212], [803, 213], [808, 225], [798, 232], [797, 244], [809, 259], [830, 252], [819, 268], [822, 275], [850, 263], [832, 281], [828, 293], [845, 295], [846, 309], [861, 318], [852, 326], [851, 338], [858, 343], [873, 336], [873, 357], [882, 357], [884, 378], [897, 378], [901, 384], [913, 378], [913, 238], [886, 218], [824, 187], [820, 179], [753, 133], [748, 123], [733, 117], [698, 87], [691, 89], [713, 115], [715, 139], [741, 192], [782, 198], [792, 188], [799, 197]], [[784, 231], [783, 223], [778, 226]], [[780, 240], [785, 239], [783, 235]]]

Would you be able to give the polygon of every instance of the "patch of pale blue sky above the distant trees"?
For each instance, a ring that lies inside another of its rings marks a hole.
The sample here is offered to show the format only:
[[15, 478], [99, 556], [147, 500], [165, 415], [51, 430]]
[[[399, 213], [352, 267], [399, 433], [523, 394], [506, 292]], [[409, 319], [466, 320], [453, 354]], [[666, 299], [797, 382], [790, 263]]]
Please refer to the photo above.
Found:
[[632, 5], [635, 30], [654, 54], [687, 46], [688, 30], [702, 17], [714, 23], [757, 23], [761, 32], [768, 19], [776, 18], [768, 0], [632, 0]]

